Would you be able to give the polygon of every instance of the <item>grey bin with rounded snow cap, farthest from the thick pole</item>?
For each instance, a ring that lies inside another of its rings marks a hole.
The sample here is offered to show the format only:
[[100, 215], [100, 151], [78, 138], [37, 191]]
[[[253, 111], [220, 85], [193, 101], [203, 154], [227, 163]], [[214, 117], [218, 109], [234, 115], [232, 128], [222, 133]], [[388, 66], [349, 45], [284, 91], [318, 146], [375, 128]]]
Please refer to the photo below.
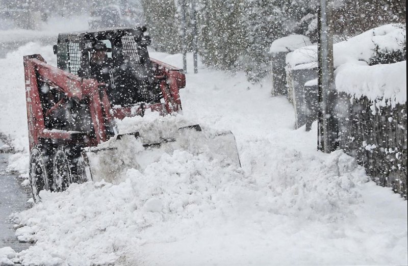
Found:
[[309, 37], [299, 34], [292, 34], [272, 42], [269, 54], [272, 57], [272, 96], [287, 95], [286, 88], [286, 55], [295, 49], [312, 43]]

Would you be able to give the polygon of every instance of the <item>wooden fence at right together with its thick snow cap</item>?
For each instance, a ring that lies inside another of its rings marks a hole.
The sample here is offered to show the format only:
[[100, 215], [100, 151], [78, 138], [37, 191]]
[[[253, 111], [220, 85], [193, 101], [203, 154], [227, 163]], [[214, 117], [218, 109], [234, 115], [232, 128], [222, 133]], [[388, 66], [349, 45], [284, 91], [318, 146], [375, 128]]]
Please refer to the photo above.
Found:
[[336, 70], [339, 146], [406, 198], [406, 61]]

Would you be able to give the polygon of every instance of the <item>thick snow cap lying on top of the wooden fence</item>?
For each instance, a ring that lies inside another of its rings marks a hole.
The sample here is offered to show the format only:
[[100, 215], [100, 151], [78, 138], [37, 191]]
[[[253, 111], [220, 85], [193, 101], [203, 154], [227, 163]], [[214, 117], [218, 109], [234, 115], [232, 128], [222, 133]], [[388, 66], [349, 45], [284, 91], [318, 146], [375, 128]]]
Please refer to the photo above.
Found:
[[336, 89], [355, 98], [382, 99], [384, 105], [404, 104], [406, 61], [373, 66], [344, 64], [336, 70]]

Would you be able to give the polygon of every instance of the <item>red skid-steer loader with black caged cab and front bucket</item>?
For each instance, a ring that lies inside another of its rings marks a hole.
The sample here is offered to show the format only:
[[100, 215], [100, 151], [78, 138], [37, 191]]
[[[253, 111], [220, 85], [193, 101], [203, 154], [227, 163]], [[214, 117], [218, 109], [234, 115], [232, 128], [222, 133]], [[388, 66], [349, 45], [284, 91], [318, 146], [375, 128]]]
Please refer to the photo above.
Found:
[[[199, 125], [145, 125], [118, 132], [117, 122], [145, 112], [180, 112], [181, 69], [149, 58], [146, 29], [59, 34], [57, 67], [23, 57], [33, 198], [72, 182], [113, 181], [126, 167], [143, 170], [163, 152], [209, 152], [240, 166], [234, 135]], [[142, 118], [141, 118], [142, 119]], [[139, 121], [139, 120], [138, 120]], [[141, 121], [141, 120], [140, 120]], [[124, 133], [124, 134], [123, 134]], [[149, 135], [148, 137], [143, 136]]]

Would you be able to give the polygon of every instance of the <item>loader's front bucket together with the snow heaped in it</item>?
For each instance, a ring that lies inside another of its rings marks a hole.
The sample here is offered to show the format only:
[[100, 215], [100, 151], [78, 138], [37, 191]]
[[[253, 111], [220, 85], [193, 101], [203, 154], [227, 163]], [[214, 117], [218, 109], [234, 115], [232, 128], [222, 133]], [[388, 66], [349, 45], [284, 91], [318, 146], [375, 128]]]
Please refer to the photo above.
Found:
[[[185, 150], [205, 154], [220, 167], [239, 166], [234, 135], [211, 128], [196, 130], [194, 123], [181, 115], [160, 116], [146, 112], [143, 117], [127, 117], [117, 121], [120, 138], [111, 138], [87, 149], [93, 181], [120, 182], [128, 168], [144, 169], [160, 160], [163, 153]], [[137, 134], [137, 138], [135, 138]], [[148, 145], [144, 148], [143, 145]]]

